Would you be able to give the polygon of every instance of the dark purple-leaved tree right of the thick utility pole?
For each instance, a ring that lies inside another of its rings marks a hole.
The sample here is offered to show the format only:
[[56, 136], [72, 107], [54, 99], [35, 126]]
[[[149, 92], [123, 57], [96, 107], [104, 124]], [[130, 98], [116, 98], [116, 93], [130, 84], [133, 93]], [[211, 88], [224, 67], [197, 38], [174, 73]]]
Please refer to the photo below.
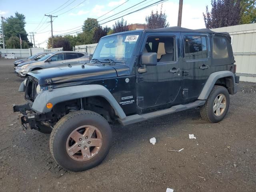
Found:
[[234, 26], [240, 23], [242, 7], [240, 0], [211, 0], [212, 10], [206, 6], [203, 13], [206, 28]]

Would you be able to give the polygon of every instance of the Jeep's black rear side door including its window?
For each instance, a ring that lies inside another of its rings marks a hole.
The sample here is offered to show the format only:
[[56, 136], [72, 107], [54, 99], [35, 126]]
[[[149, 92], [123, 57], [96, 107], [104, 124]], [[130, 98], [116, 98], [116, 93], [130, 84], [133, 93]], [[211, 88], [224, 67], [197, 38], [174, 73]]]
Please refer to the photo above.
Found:
[[183, 44], [182, 97], [198, 98], [210, 75], [208, 34], [181, 33]]

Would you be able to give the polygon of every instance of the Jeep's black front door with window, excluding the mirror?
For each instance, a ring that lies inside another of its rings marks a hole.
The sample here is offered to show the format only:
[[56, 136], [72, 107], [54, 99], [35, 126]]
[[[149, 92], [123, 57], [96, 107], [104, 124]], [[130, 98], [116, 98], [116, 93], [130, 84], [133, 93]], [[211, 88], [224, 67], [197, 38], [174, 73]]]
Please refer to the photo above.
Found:
[[[136, 103], [139, 108], [174, 104], [181, 91], [182, 60], [179, 34], [147, 34], [141, 53], [156, 52], [156, 66], [146, 66], [146, 72], [136, 70]], [[138, 65], [140, 66], [140, 65]], [[138, 67], [136, 68], [138, 69]]]

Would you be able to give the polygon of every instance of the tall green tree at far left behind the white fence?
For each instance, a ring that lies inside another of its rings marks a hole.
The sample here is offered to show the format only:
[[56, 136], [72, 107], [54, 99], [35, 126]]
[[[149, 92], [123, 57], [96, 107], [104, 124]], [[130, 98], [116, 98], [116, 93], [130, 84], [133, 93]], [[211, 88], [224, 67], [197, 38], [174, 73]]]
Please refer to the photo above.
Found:
[[[16, 36], [18, 38], [21, 37], [22, 41], [28, 42], [28, 34], [25, 30], [25, 16], [24, 14], [20, 14], [18, 12], [15, 13], [14, 16], [8, 17], [4, 23], [4, 37], [7, 40], [11, 38], [12, 36]], [[12, 38], [13, 40], [13, 38]]]

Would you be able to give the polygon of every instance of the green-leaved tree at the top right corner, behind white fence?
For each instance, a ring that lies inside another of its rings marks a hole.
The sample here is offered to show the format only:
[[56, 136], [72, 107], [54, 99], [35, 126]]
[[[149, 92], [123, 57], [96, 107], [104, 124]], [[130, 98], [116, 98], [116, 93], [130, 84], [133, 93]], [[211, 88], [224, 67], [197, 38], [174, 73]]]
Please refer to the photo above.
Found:
[[249, 24], [256, 22], [256, 0], [242, 0], [242, 16], [240, 24]]

